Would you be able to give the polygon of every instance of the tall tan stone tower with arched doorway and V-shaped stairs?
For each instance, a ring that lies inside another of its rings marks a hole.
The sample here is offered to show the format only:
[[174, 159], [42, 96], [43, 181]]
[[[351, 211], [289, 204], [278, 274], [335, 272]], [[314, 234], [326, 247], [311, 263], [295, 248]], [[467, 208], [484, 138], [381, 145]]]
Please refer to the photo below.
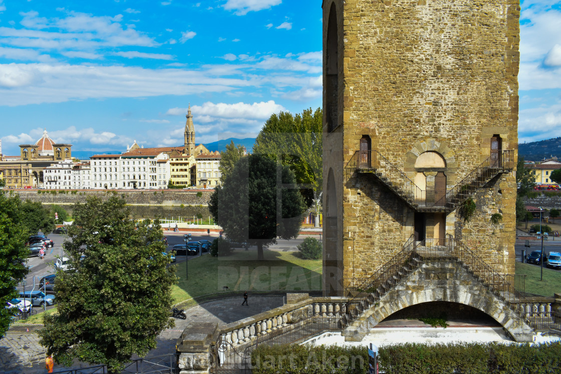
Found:
[[323, 1], [327, 295], [412, 241], [514, 273], [519, 9]]

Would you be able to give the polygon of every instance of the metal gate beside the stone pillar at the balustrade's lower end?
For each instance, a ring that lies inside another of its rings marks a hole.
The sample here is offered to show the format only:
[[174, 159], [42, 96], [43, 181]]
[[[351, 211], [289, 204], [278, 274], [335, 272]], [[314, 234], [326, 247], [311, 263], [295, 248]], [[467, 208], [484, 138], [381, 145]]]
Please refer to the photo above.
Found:
[[253, 346], [250, 346], [237, 350], [228, 341], [218, 340], [210, 348], [210, 372], [217, 374], [251, 373], [251, 351], [253, 348]]

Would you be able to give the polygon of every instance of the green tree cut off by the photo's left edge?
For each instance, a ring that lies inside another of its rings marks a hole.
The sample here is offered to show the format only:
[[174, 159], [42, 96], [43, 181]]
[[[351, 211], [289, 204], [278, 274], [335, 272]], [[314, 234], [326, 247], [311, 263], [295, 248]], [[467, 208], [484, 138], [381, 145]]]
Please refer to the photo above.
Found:
[[29, 250], [25, 247], [29, 230], [22, 224], [19, 197], [0, 194], [0, 337], [10, 327], [16, 312], [4, 308], [7, 301], [17, 297], [16, 285], [29, 271], [25, 266]]

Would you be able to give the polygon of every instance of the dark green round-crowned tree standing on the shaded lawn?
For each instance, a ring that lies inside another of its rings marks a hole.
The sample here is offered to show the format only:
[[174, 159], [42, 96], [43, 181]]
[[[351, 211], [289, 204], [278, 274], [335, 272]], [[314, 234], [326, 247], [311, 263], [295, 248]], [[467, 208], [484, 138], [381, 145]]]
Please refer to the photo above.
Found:
[[298, 190], [282, 188], [294, 183], [292, 170], [275, 160], [264, 155], [243, 157], [222, 186], [215, 188], [210, 213], [228, 240], [257, 246], [257, 259], [263, 260], [263, 246], [300, 232], [302, 196]]

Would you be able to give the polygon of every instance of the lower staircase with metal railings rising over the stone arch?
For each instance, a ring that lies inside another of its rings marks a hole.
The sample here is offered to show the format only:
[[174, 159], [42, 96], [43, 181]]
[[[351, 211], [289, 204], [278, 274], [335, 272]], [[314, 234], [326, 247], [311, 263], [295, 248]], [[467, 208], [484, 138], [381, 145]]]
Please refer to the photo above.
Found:
[[398, 281], [415, 270], [421, 262], [431, 260], [458, 261], [516, 313], [518, 313], [518, 303], [525, 302], [523, 275], [498, 273], [465, 244], [453, 237], [416, 242], [415, 237], [412, 236], [404, 244], [401, 252], [392, 257], [369, 278], [343, 280], [344, 295], [349, 299], [343, 325], [348, 325], [362, 311], [375, 304]]

